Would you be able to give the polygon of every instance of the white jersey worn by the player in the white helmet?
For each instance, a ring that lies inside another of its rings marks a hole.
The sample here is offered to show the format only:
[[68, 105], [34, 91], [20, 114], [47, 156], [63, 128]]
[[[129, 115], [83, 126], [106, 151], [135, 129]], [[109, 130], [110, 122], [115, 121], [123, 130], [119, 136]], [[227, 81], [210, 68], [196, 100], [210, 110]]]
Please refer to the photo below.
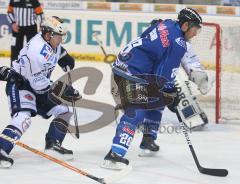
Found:
[[35, 92], [40, 93], [51, 85], [50, 75], [60, 58], [61, 50], [60, 45], [53, 50], [38, 33], [22, 48], [13, 68], [29, 81]]

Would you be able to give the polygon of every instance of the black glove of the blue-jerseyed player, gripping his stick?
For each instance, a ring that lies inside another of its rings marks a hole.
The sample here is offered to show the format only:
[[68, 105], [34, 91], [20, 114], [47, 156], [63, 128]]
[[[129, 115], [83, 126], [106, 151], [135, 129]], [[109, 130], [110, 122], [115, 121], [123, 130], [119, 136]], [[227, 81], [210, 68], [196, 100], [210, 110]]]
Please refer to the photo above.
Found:
[[174, 113], [177, 112], [177, 106], [180, 102], [180, 97], [177, 92], [177, 88], [174, 87], [170, 91], [163, 91], [164, 101], [168, 109]]

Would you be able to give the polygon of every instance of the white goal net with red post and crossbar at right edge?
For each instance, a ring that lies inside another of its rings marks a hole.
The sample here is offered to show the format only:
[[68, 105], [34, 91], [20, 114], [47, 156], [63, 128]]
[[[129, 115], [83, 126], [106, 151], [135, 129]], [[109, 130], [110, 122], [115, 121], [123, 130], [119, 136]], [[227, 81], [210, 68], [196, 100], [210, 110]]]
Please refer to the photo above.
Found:
[[211, 122], [240, 122], [240, 25], [204, 23], [191, 40], [213, 88], [198, 99]]

